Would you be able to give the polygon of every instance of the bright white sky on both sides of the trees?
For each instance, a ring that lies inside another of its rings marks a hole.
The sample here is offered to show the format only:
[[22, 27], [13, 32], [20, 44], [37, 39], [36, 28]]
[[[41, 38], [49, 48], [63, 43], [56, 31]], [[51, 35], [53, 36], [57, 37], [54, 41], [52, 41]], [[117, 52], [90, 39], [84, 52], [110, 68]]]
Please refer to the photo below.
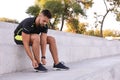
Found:
[[[34, 5], [35, 0], [0, 0], [0, 17], [16, 19], [21, 22], [24, 18], [29, 17], [26, 10], [29, 6]], [[105, 14], [105, 7], [103, 0], [94, 0], [93, 7], [87, 11], [87, 21], [90, 28], [93, 27], [95, 19], [93, 18], [94, 12], [98, 14]], [[109, 14], [105, 20], [103, 29], [120, 30], [120, 22], [115, 20], [114, 14]]]

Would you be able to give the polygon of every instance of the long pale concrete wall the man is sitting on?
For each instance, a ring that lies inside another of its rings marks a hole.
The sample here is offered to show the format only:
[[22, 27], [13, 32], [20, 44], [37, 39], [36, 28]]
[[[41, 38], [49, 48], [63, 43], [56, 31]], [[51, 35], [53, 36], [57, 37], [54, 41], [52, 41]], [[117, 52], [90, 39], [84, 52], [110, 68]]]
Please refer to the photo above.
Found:
[[[0, 22], [0, 74], [31, 68], [23, 46], [16, 45], [13, 32], [18, 24]], [[120, 53], [120, 41], [49, 30], [56, 38], [60, 61], [65, 63], [100, 58]], [[47, 65], [53, 60], [47, 46]]]

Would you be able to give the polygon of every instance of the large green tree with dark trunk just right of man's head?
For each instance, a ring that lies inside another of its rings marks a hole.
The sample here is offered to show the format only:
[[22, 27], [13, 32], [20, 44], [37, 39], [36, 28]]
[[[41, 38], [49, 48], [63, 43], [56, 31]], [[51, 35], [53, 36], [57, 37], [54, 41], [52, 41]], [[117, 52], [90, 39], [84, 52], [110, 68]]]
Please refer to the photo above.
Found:
[[[64, 21], [71, 17], [72, 14], [84, 14], [80, 5], [75, 1], [71, 2], [70, 0], [50, 0], [44, 4], [44, 8], [51, 10], [53, 13], [54, 22], [52, 26], [54, 26], [55, 23], [58, 23], [61, 19], [62, 23], [60, 31], [63, 29]], [[72, 9], [72, 11], [70, 9]]]

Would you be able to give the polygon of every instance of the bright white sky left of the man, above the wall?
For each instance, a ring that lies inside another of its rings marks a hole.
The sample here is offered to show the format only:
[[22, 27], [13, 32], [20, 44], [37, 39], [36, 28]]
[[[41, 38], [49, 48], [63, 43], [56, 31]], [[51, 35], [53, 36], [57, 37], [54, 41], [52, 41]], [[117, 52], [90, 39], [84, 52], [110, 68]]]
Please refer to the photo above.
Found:
[[28, 17], [26, 10], [34, 5], [35, 0], [0, 0], [0, 17], [22, 21]]

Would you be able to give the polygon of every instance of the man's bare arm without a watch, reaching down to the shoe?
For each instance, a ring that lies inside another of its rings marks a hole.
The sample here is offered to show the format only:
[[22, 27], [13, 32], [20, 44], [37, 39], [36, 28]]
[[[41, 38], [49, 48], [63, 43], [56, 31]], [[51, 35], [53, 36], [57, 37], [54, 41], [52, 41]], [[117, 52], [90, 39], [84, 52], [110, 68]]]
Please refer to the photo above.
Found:
[[37, 67], [38, 65], [36, 64], [36, 60], [34, 59], [32, 52], [30, 50], [30, 34], [22, 32], [22, 41], [24, 44], [25, 51], [32, 61], [33, 67]]

